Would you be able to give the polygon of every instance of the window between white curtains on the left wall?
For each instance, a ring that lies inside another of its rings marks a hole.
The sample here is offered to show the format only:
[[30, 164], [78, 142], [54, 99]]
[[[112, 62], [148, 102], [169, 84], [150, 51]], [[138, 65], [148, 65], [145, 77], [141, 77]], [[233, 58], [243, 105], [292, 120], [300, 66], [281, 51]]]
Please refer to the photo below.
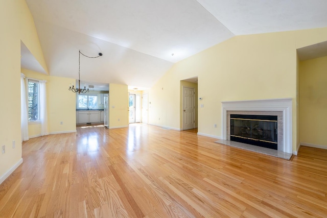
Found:
[[39, 81], [28, 80], [29, 121], [39, 120]]

